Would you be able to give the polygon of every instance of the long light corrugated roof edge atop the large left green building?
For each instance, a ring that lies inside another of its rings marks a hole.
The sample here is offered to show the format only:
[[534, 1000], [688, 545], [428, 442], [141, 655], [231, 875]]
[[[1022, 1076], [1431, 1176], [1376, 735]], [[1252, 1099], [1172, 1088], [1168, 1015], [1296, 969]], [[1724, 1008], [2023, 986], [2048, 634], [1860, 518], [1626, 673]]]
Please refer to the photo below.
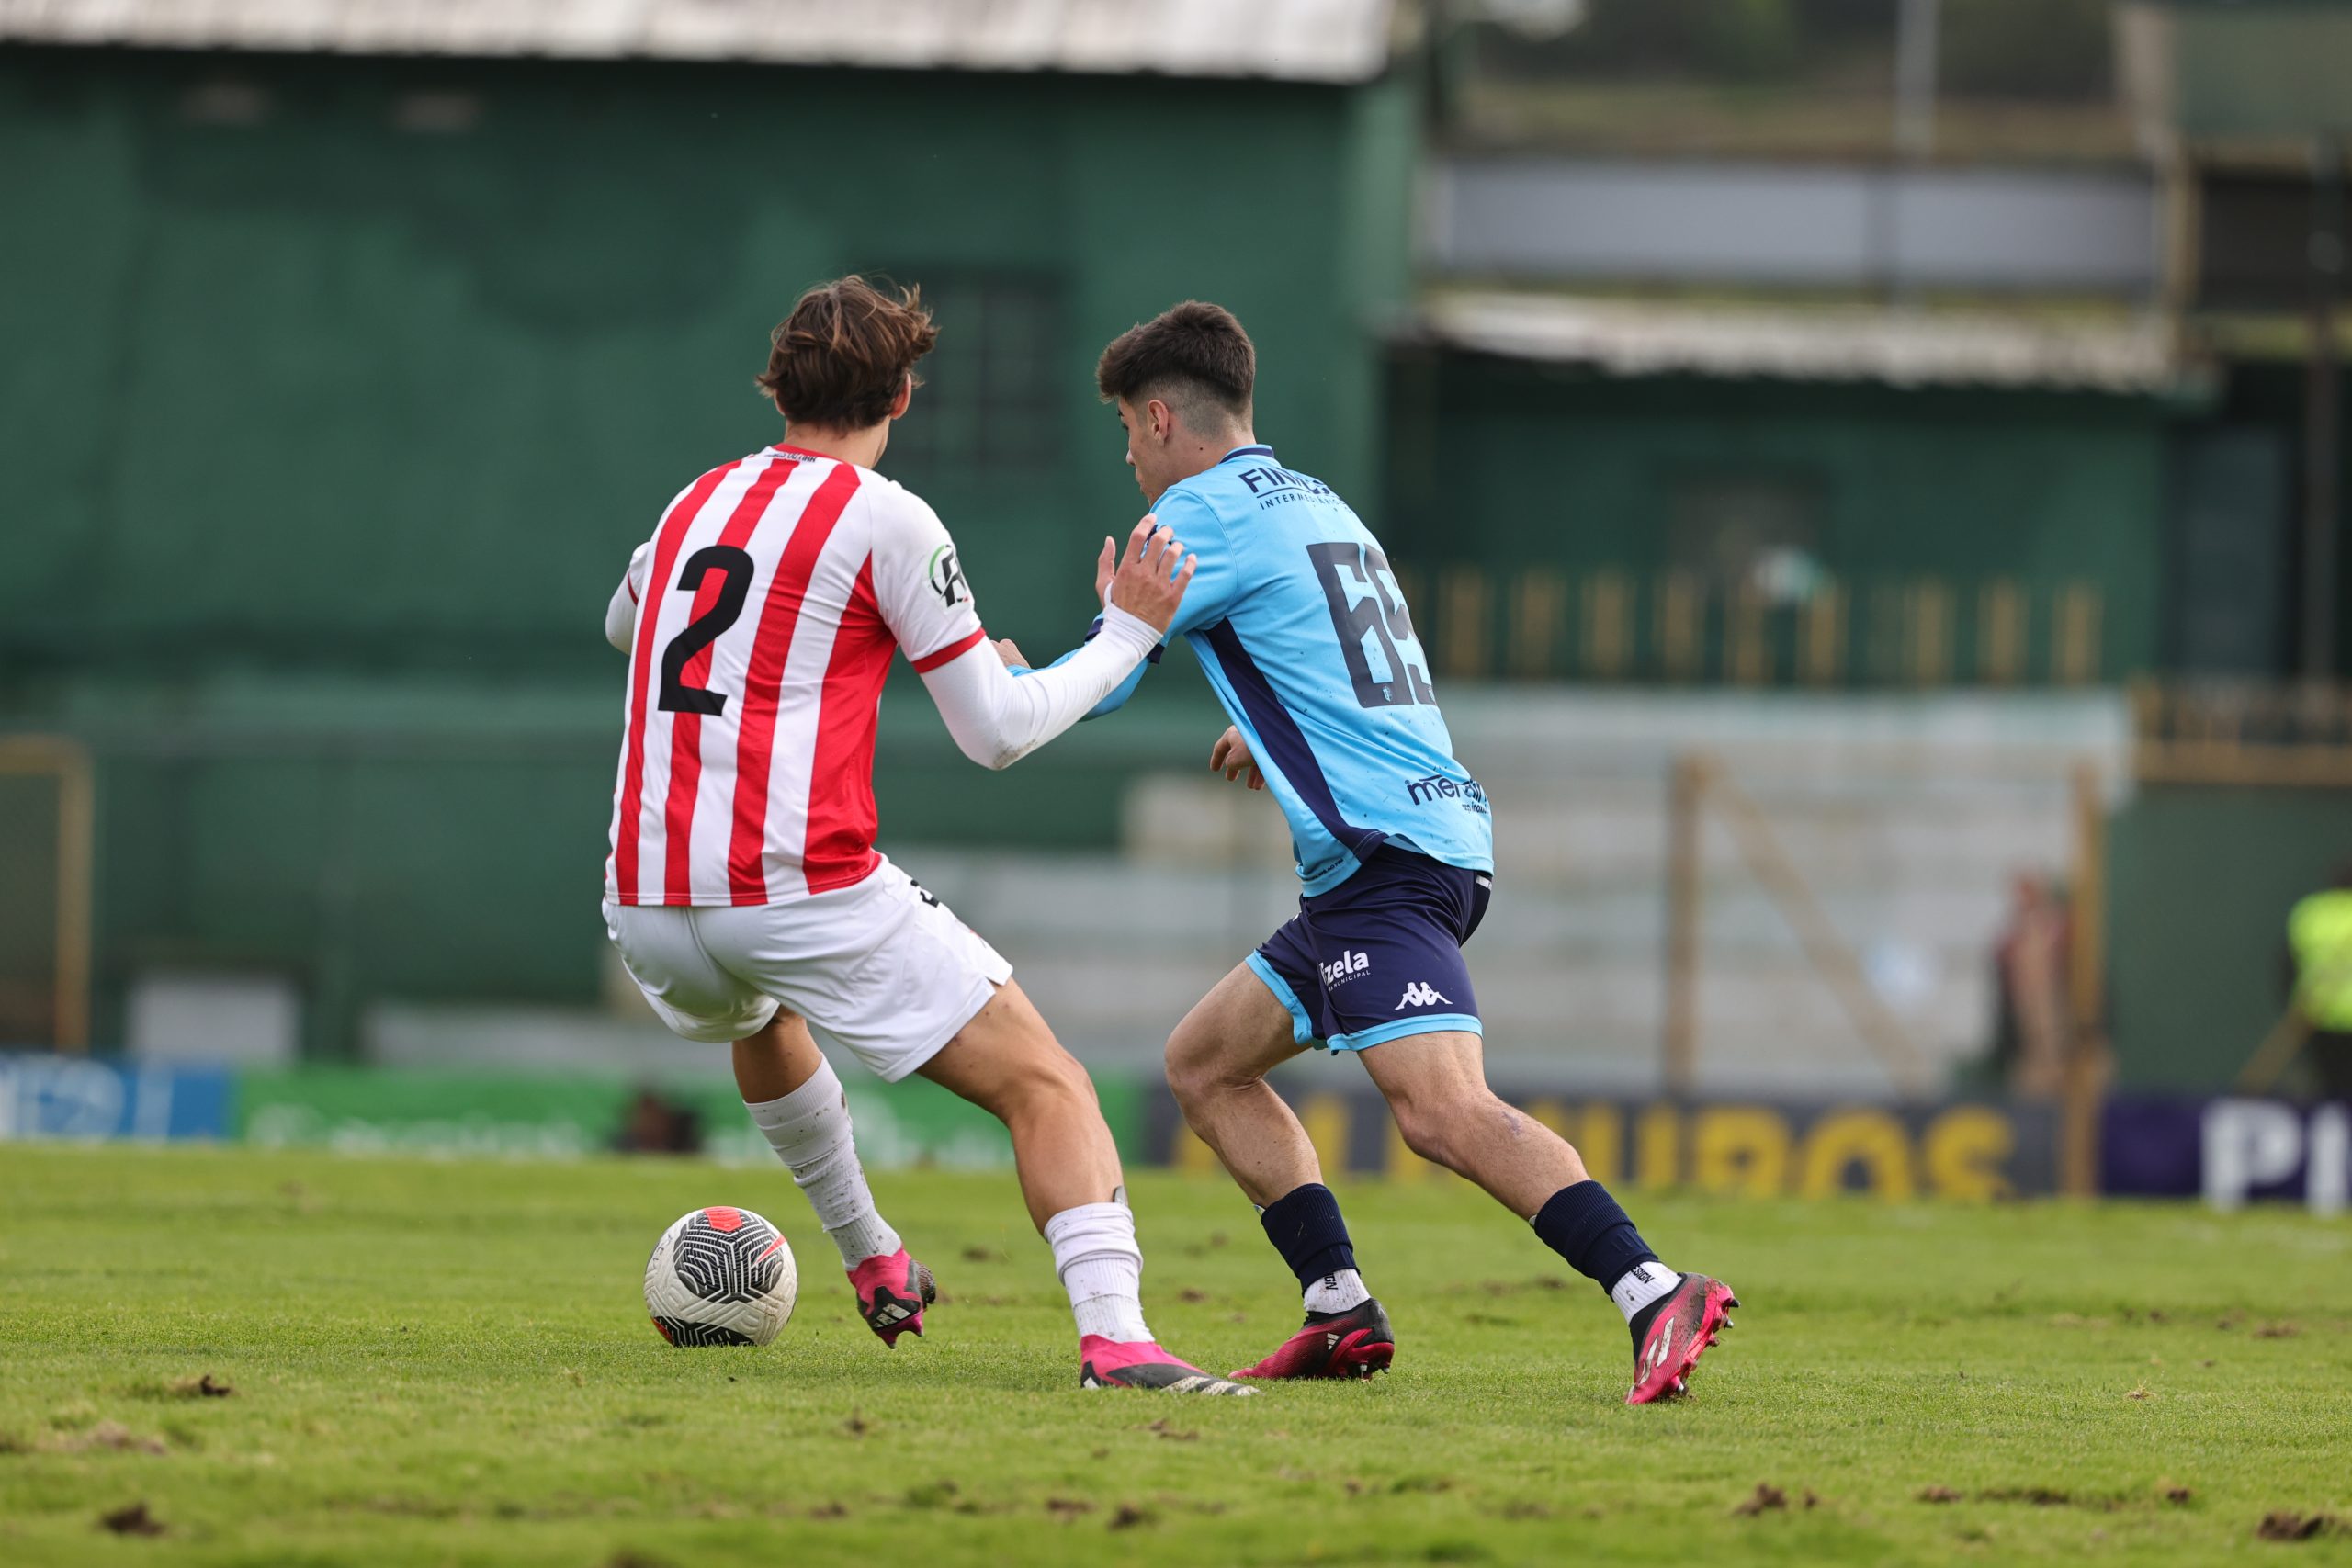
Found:
[[1395, 0], [0, 0], [0, 40], [1362, 82]]

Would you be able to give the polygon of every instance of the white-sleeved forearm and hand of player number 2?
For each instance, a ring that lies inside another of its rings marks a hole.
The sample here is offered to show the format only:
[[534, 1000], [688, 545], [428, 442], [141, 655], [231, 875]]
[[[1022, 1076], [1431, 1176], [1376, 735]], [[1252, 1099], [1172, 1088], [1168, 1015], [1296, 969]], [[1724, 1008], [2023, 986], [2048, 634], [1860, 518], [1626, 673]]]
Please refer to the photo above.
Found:
[[1014, 675], [990, 644], [924, 672], [957, 748], [988, 769], [1007, 769], [1077, 724], [1127, 682], [1176, 618], [1195, 562], [1183, 543], [1145, 517], [1108, 585], [1103, 630], [1047, 670]]

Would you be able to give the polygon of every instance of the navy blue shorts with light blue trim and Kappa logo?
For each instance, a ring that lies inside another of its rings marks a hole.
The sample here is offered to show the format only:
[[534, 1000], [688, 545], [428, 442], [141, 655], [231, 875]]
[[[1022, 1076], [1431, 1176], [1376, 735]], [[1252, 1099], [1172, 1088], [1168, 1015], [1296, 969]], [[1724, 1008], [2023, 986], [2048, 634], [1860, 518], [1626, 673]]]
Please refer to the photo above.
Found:
[[1494, 879], [1383, 846], [1249, 954], [1291, 1013], [1291, 1039], [1362, 1051], [1406, 1034], [1482, 1034], [1463, 943], [1486, 919]]

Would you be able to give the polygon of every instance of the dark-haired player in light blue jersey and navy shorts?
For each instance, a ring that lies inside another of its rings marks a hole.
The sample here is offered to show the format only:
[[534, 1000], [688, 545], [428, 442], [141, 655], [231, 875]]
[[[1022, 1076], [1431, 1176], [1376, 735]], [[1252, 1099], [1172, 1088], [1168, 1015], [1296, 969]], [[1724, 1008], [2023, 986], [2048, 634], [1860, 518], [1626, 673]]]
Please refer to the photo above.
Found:
[[1200, 301], [1129, 329], [1096, 367], [1136, 484], [1200, 557], [1169, 635], [1192, 644], [1232, 719], [1209, 766], [1270, 790], [1298, 856], [1298, 917], [1167, 1046], [1185, 1121], [1305, 1293], [1305, 1326], [1235, 1375], [1364, 1378], [1395, 1356], [1315, 1145], [1265, 1081], [1312, 1046], [1355, 1051], [1416, 1154], [1475, 1180], [1616, 1300], [1635, 1345], [1628, 1403], [1679, 1394], [1738, 1302], [1663, 1267], [1576, 1150], [1486, 1086], [1461, 947], [1494, 882], [1491, 804], [1454, 757], [1381, 541], [1258, 442], [1254, 383], [1249, 334]]

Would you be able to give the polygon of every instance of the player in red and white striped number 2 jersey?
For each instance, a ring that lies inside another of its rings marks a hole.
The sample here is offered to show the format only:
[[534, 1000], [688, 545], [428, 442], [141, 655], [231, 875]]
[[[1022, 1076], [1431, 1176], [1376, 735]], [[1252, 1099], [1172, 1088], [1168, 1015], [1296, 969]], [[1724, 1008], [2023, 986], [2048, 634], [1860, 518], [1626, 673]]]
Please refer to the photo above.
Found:
[[1004, 1121], [1087, 1387], [1247, 1394], [1143, 1324], [1143, 1253], [1087, 1070], [995, 947], [875, 851], [875, 719], [898, 651], [964, 755], [1002, 769], [1103, 701], [1192, 578], [1145, 517], [1101, 635], [1016, 677], [948, 529], [875, 473], [936, 336], [915, 292], [861, 277], [809, 289], [760, 376], [788, 440], [689, 484], [630, 557], [604, 616], [630, 656], [604, 917], [677, 1034], [734, 1041], [753, 1121], [887, 1345], [922, 1333], [934, 1284], [875, 1208], [816, 1034], [882, 1079], [920, 1072]]

